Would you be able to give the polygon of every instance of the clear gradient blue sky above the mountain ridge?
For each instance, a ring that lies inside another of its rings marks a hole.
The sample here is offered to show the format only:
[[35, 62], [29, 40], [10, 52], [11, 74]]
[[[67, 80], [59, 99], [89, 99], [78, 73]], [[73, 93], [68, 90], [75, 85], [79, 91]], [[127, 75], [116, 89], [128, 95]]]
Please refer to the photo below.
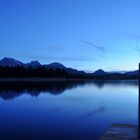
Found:
[[134, 70], [140, 0], [0, 0], [0, 58]]

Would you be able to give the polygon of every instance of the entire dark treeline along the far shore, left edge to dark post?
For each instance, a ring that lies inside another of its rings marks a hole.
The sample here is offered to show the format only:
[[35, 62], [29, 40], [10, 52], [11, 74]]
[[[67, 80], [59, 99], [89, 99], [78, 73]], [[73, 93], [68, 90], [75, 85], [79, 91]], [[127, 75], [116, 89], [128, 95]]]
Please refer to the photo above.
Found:
[[131, 80], [138, 79], [138, 75], [120, 73], [107, 73], [104, 75], [88, 74], [80, 71], [71, 72], [68, 69], [53, 69], [40, 67], [2, 67], [0, 66], [0, 78], [64, 78], [64, 79], [94, 79], [94, 80]]

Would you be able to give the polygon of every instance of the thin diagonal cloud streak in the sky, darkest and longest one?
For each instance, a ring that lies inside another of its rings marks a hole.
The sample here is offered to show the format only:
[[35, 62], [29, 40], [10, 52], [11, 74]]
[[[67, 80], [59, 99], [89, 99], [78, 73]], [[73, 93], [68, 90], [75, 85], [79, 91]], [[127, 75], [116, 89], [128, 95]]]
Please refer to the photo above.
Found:
[[100, 46], [100, 45], [98, 45], [98, 44], [94, 44], [94, 43], [89, 42], [89, 41], [87, 41], [87, 40], [81, 40], [81, 42], [84, 43], [84, 44], [86, 44], [86, 45], [88, 45], [88, 46], [91, 46], [91, 47], [93, 47], [93, 48], [96, 48], [97, 50], [99, 50], [99, 51], [101, 51], [101, 52], [105, 52], [105, 51], [106, 51], [105, 47]]

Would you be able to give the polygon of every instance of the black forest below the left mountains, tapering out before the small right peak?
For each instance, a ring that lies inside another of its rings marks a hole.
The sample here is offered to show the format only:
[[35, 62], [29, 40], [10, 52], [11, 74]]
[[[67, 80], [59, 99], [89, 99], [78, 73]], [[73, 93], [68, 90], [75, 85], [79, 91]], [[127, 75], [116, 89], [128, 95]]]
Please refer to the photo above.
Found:
[[33, 67], [0, 67], [1, 78], [91, 78], [90, 74], [71, 73], [66, 69], [52, 69], [40, 66], [37, 68]]

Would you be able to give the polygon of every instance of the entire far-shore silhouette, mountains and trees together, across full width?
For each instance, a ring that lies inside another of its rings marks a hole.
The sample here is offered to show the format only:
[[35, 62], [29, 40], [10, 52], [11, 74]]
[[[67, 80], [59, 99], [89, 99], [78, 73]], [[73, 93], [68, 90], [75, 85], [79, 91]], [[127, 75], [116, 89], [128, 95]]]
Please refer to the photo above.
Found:
[[67, 78], [67, 79], [138, 79], [139, 71], [125, 73], [105, 72], [102, 69], [94, 73], [86, 73], [68, 68], [61, 63], [40, 64], [38, 61], [22, 63], [14, 58], [5, 57], [0, 60], [0, 77], [20, 78]]

